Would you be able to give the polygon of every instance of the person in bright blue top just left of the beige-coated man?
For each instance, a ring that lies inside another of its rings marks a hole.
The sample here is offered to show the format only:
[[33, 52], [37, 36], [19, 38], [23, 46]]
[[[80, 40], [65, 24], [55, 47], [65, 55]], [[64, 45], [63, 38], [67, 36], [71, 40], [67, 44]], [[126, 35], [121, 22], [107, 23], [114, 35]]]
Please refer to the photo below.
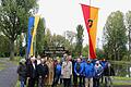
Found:
[[52, 82], [52, 87], [58, 84], [61, 75], [61, 63], [60, 60], [57, 60], [57, 65], [55, 66], [55, 76]]

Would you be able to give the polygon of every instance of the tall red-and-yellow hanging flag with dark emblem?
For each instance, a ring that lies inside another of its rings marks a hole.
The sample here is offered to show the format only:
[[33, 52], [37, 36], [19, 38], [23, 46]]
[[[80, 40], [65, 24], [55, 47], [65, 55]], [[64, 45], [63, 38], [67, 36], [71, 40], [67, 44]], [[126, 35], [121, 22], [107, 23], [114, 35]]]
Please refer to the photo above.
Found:
[[81, 4], [83, 16], [88, 33], [90, 44], [90, 59], [96, 59], [96, 33], [97, 33], [97, 20], [98, 8], [94, 8], [86, 4]]

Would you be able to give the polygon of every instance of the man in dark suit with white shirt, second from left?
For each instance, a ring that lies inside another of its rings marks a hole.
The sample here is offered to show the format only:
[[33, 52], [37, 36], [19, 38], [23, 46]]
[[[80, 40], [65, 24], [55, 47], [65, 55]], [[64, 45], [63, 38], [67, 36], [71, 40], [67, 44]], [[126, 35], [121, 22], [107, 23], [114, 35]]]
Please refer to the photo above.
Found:
[[27, 64], [28, 87], [35, 87], [37, 80], [37, 63], [35, 57], [31, 58], [31, 63]]

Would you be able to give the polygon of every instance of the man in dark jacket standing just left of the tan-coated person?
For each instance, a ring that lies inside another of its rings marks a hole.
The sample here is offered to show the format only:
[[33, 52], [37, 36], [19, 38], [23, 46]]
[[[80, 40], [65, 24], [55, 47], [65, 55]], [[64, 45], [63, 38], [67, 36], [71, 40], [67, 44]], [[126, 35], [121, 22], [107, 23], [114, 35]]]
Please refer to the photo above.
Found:
[[38, 71], [38, 87], [44, 87], [45, 85], [44, 80], [47, 77], [49, 72], [49, 69], [44, 59], [41, 59], [41, 63], [38, 64], [37, 71]]

